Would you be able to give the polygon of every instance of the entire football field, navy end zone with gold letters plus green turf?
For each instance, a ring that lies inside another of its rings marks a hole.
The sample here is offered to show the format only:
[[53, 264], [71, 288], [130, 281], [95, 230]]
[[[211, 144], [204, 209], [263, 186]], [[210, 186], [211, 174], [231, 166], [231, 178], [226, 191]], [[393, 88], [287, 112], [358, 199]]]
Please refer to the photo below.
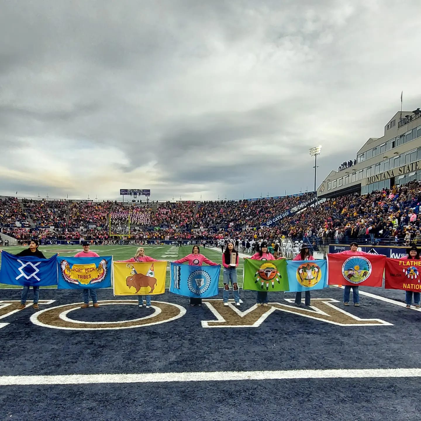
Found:
[[[136, 248], [92, 246], [115, 260]], [[145, 252], [174, 260], [191, 247]], [[220, 251], [204, 254], [221, 262]], [[220, 289], [190, 307], [166, 290], [147, 309], [101, 289], [100, 307], [81, 309], [78, 290], [42, 288], [39, 310], [30, 292], [18, 311], [20, 288], [3, 285], [0, 420], [418, 419], [421, 312], [405, 309], [403, 291], [361, 287], [360, 307], [344, 307], [342, 294], [314, 291], [305, 307], [295, 293], [272, 292], [258, 307], [256, 293], [241, 290], [236, 307]]]

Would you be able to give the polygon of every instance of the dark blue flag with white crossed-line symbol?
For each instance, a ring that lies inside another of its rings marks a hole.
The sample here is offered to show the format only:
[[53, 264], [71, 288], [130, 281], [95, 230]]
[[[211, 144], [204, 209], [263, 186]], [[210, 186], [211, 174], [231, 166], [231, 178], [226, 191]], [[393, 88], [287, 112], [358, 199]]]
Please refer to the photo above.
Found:
[[49, 259], [1, 253], [0, 282], [8, 285], [45, 287], [57, 285], [57, 255]]

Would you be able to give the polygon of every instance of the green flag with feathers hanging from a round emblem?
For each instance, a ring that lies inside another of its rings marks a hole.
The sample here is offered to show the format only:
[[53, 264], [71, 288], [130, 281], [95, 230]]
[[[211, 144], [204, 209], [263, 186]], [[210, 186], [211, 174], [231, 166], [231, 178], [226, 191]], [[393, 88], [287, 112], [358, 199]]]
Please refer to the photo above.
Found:
[[245, 259], [242, 289], [252, 291], [288, 291], [286, 260]]

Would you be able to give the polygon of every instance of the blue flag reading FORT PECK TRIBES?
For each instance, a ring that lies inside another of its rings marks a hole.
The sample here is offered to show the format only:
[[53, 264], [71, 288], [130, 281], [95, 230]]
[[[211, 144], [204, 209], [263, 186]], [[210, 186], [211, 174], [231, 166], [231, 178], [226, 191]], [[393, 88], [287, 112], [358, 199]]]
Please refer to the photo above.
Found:
[[112, 256], [58, 257], [59, 289], [111, 287]]

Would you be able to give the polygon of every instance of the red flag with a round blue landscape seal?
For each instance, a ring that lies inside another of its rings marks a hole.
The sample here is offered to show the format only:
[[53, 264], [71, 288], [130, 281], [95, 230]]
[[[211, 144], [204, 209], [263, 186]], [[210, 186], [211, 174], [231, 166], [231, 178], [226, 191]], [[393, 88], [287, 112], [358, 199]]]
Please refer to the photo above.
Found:
[[381, 287], [385, 261], [382, 254], [328, 254], [328, 284]]

